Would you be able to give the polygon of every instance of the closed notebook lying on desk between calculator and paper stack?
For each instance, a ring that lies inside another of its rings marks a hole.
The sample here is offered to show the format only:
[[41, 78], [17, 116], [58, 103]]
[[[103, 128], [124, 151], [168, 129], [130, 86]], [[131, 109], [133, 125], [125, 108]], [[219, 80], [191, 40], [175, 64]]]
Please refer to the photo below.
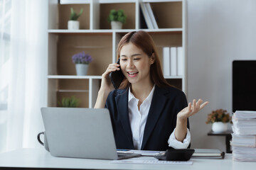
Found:
[[220, 152], [219, 149], [195, 149], [191, 158], [201, 159], [223, 159], [225, 152]]

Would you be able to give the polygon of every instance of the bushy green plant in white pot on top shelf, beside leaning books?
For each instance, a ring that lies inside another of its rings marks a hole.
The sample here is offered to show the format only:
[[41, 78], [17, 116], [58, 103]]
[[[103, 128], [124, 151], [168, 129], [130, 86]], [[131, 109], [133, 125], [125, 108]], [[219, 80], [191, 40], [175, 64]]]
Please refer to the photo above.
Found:
[[122, 29], [123, 23], [125, 23], [127, 16], [124, 14], [124, 10], [119, 9], [116, 11], [112, 9], [108, 17], [108, 21], [111, 23], [112, 29]]

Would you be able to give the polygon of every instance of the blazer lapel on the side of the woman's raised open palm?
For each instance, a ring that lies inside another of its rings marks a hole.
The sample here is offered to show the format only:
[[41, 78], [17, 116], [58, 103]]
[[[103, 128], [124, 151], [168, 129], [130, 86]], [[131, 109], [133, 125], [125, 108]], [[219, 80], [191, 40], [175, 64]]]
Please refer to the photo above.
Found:
[[[162, 110], [166, 104], [167, 98], [164, 96], [163, 91], [156, 86], [154, 91], [154, 96], [151, 101], [151, 106], [149, 108], [149, 115], [146, 120], [146, 125], [144, 129], [144, 136], [142, 140], [142, 150], [144, 149], [147, 140], [149, 140], [149, 136], [151, 132], [154, 130], [154, 127], [159, 120], [159, 116], [161, 115]], [[157, 140], [157, 139], [156, 139]]]

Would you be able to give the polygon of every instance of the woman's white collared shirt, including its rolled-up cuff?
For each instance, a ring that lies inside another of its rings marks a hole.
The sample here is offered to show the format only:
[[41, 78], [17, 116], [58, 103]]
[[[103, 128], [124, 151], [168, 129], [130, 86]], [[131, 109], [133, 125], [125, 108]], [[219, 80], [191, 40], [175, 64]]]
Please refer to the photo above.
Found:
[[[128, 94], [128, 110], [129, 110], [129, 122], [132, 129], [132, 140], [134, 142], [134, 149], [142, 148], [142, 140], [144, 135], [144, 129], [146, 125], [146, 119], [149, 115], [149, 108], [154, 94], [155, 85], [153, 86], [149, 96], [142, 102], [141, 106], [138, 108], [139, 99], [135, 98], [131, 92], [131, 87], [129, 87]], [[175, 129], [174, 129], [175, 132]], [[191, 135], [187, 128], [187, 135], [183, 142], [176, 140], [174, 132], [171, 133], [169, 140], [169, 147], [174, 147], [175, 149], [187, 148], [190, 141]]]

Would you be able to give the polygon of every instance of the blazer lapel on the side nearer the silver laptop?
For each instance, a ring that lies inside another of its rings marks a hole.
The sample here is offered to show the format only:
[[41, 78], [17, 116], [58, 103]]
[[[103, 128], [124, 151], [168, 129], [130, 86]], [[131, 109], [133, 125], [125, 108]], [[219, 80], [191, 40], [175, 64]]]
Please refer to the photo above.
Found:
[[119, 118], [122, 122], [122, 126], [124, 128], [124, 133], [127, 135], [127, 138], [132, 147], [132, 130], [129, 123], [129, 112], [128, 112], [128, 90], [122, 91], [115, 97], [115, 101], [117, 103], [117, 113], [119, 114]]

